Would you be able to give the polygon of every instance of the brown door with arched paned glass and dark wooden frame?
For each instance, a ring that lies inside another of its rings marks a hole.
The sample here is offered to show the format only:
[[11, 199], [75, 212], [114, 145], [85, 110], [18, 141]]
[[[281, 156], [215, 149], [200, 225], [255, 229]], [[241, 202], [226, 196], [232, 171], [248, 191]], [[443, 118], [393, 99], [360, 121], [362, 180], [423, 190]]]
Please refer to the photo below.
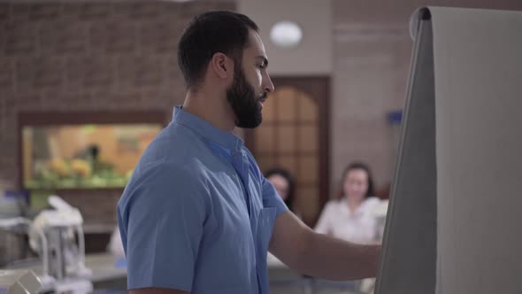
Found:
[[247, 144], [262, 172], [275, 166], [296, 177], [296, 210], [313, 226], [329, 197], [328, 89], [326, 77], [274, 78], [263, 123]]

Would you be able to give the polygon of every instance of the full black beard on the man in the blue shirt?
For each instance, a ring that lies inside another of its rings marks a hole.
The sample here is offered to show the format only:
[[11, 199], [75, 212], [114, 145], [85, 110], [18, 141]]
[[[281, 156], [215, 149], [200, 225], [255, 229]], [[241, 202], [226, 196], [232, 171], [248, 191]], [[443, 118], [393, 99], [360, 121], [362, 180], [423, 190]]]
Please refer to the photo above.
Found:
[[239, 128], [256, 128], [259, 126], [263, 120], [260, 103], [263, 99], [266, 99], [266, 93], [257, 96], [254, 87], [249, 84], [242, 69], [235, 71], [234, 82], [230, 88], [226, 89], [226, 100], [234, 111], [235, 126]]

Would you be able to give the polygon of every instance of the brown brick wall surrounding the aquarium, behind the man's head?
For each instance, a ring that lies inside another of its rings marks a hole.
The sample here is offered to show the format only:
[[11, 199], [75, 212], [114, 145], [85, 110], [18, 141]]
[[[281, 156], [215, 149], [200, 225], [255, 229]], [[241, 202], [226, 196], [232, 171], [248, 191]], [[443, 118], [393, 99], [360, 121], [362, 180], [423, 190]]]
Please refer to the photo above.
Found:
[[[15, 2], [12, 2], [15, 3]], [[183, 27], [234, 1], [0, 4], [0, 179], [19, 183], [19, 112], [163, 110], [184, 98]], [[86, 223], [115, 223], [119, 191], [62, 193]]]

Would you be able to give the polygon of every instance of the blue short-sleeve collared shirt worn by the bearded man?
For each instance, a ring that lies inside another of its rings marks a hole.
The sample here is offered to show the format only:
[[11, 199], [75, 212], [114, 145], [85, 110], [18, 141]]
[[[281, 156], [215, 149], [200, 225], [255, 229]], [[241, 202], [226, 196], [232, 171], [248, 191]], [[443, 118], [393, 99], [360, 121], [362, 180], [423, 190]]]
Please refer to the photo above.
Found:
[[287, 210], [241, 138], [176, 107], [119, 199], [127, 286], [268, 293], [268, 243]]

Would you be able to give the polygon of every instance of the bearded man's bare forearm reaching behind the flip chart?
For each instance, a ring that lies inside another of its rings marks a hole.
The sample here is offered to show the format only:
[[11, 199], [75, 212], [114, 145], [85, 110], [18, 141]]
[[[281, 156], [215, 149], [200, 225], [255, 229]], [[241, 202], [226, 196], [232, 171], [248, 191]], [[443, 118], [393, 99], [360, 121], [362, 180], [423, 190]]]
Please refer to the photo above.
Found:
[[311, 233], [307, 250], [299, 260], [305, 275], [328, 280], [356, 280], [377, 275], [380, 245], [353, 244]]

